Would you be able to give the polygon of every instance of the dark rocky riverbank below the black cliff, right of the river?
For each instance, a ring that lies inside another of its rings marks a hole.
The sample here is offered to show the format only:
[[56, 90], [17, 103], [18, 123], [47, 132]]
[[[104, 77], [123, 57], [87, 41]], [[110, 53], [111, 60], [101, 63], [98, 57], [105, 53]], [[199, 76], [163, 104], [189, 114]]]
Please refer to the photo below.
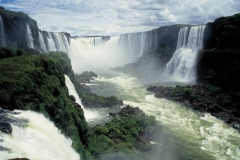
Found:
[[210, 113], [240, 131], [239, 92], [224, 91], [211, 85], [162, 87], [149, 86], [156, 98], [183, 103], [194, 110]]

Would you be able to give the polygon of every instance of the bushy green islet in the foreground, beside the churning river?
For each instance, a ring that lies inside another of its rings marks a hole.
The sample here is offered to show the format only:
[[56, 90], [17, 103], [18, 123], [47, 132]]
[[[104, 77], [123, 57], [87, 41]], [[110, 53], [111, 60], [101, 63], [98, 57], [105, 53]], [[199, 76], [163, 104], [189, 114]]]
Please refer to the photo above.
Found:
[[88, 150], [94, 159], [103, 159], [104, 155], [112, 153], [116, 154], [113, 159], [120, 158], [123, 154], [136, 160], [147, 159], [146, 153], [150, 156], [154, 147], [150, 140], [160, 131], [155, 118], [130, 106], [123, 108], [119, 116], [89, 131]]

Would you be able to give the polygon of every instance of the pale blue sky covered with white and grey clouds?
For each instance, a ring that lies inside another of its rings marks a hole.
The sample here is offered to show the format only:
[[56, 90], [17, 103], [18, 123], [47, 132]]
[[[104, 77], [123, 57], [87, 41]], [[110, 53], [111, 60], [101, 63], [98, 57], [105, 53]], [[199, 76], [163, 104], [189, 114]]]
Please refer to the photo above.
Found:
[[206, 24], [240, 12], [240, 0], [0, 0], [27, 13], [41, 30], [72, 36], [141, 32], [172, 24]]

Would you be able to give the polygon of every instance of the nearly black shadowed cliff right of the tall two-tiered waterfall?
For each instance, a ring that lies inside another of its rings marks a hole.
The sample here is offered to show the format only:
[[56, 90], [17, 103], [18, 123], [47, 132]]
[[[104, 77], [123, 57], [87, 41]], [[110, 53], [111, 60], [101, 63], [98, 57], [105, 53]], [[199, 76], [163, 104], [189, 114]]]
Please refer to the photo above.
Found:
[[240, 14], [208, 23], [199, 52], [198, 82], [240, 90]]

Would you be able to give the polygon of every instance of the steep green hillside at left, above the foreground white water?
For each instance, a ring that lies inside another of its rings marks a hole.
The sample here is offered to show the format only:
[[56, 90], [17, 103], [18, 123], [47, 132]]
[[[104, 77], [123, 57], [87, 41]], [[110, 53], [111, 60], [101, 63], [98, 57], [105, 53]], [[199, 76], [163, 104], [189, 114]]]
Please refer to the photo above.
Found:
[[73, 107], [60, 63], [47, 55], [6, 48], [0, 48], [0, 57], [0, 106], [43, 113], [85, 157], [88, 126], [83, 110]]

